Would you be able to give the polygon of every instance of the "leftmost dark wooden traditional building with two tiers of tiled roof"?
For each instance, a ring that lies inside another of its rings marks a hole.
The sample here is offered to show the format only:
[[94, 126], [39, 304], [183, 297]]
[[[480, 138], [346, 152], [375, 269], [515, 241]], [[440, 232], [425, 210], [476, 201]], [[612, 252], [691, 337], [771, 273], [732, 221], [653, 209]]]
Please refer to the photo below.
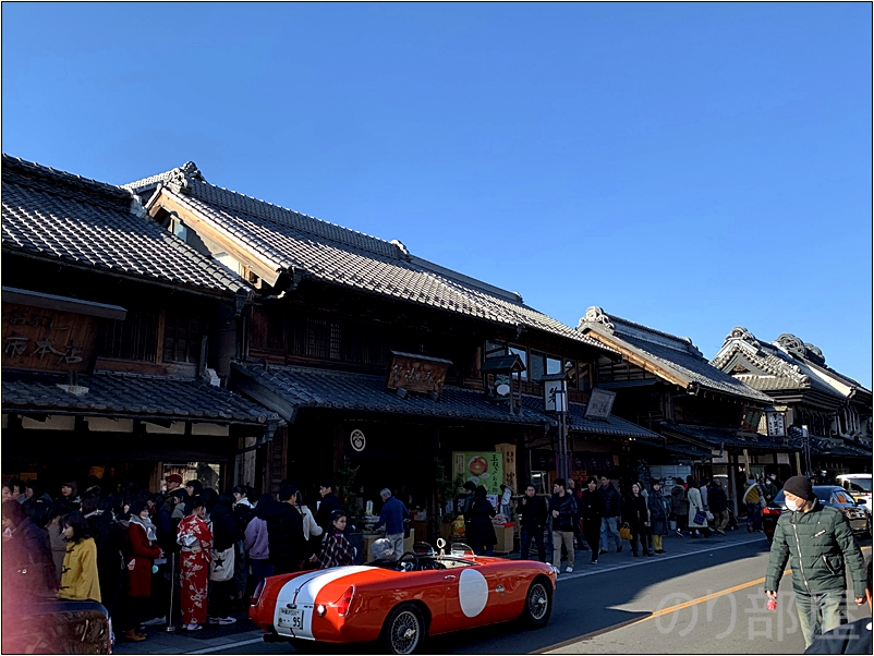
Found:
[[219, 380], [255, 290], [128, 190], [7, 155], [2, 190], [4, 478], [254, 483], [284, 422]]

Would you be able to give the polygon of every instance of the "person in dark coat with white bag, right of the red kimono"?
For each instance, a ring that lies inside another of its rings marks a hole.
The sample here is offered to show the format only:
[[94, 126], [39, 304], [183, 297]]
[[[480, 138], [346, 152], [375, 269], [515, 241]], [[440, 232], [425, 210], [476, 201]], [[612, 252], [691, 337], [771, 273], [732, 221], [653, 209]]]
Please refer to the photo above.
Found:
[[[233, 564], [228, 567], [227, 560], [235, 562], [236, 543], [240, 540], [240, 530], [234, 520], [234, 496], [223, 493], [218, 503], [213, 508], [213, 571], [210, 572], [211, 590], [209, 592], [209, 623], [233, 624], [236, 622], [231, 615], [231, 599], [236, 593], [236, 583], [233, 578]], [[224, 567], [219, 574], [215, 568], [222, 563]], [[229, 570], [227, 573], [224, 570]]]

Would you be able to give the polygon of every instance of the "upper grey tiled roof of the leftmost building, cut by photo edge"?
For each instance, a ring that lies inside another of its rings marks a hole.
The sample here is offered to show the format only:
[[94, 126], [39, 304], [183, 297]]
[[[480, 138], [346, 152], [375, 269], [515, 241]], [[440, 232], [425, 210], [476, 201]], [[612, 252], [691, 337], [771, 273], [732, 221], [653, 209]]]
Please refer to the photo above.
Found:
[[148, 219], [128, 190], [8, 155], [2, 161], [4, 251], [181, 287], [252, 292]]

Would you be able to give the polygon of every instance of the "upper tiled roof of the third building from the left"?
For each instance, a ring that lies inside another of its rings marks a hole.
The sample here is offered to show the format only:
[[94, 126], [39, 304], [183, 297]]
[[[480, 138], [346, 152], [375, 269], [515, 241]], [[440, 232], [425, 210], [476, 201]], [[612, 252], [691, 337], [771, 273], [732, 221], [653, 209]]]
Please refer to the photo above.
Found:
[[[608, 341], [631, 348], [658, 368], [672, 372], [680, 378], [697, 382], [701, 387], [724, 394], [741, 397], [760, 403], [770, 403], [770, 397], [753, 389], [733, 376], [715, 367], [701, 354], [692, 340], [647, 328], [606, 315], [599, 307], [590, 307], [580, 319], [578, 330], [593, 331]], [[657, 374], [656, 374], [657, 375]]]

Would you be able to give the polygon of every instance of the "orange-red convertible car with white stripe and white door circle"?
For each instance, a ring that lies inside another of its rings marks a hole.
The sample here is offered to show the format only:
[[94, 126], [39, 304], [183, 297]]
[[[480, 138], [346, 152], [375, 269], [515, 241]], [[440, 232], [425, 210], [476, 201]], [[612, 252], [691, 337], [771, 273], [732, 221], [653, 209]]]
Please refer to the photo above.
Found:
[[414, 654], [428, 635], [521, 619], [542, 628], [553, 612], [556, 572], [532, 560], [450, 554], [417, 543], [397, 562], [294, 572], [258, 586], [248, 616], [266, 642], [307, 651], [316, 643], [381, 641]]

